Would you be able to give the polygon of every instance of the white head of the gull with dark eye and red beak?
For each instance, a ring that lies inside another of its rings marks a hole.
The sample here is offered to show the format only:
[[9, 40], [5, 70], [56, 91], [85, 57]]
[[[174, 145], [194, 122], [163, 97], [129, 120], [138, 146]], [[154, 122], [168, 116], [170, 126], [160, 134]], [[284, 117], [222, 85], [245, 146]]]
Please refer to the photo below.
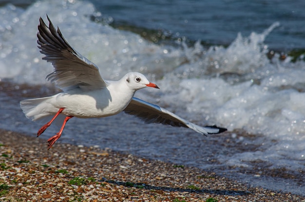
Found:
[[148, 79], [139, 72], [129, 72], [123, 79], [125, 80], [128, 87], [133, 90], [139, 90], [145, 87], [159, 88], [156, 84], [152, 84]]

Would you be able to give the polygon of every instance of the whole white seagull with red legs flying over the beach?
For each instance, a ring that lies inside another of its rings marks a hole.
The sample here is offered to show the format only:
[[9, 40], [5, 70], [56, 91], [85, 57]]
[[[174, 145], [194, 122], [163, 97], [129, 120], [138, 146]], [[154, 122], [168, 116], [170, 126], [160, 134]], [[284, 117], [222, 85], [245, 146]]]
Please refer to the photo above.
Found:
[[141, 73], [129, 72], [118, 81], [103, 80], [98, 67], [72, 48], [59, 28], [56, 30], [48, 16], [47, 19], [49, 27], [39, 18], [38, 48], [45, 55], [42, 59], [51, 62], [54, 67], [46, 80], [55, 83], [62, 92], [50, 97], [20, 101], [20, 107], [25, 116], [33, 121], [51, 118], [38, 130], [37, 136], [57, 117], [62, 117], [59, 132], [47, 140], [48, 150], [61, 136], [70, 118], [101, 118], [122, 111], [141, 118], [146, 123], [187, 127], [203, 135], [227, 130], [216, 125], [198, 126], [158, 105], [133, 97], [135, 91], [141, 88], [159, 88]]

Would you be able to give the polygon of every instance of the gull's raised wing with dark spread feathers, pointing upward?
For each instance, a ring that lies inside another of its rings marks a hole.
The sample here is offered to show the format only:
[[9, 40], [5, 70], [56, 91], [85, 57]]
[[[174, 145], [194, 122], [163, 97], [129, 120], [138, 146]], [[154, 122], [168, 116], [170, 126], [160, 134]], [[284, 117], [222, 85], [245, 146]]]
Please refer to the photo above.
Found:
[[87, 90], [99, 89], [107, 84], [101, 78], [98, 67], [90, 60], [74, 50], [62, 36], [59, 28], [53, 26], [47, 16], [49, 27], [39, 18], [37, 43], [43, 60], [51, 62], [54, 72], [46, 79], [55, 83], [62, 90], [83, 88]]

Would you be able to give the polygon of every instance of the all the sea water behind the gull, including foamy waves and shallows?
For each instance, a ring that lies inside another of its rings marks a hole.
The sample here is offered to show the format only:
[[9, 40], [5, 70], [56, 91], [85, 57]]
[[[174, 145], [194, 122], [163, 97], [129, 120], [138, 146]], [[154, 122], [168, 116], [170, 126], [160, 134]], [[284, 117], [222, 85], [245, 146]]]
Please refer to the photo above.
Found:
[[[104, 79], [139, 71], [160, 90], [142, 89], [136, 97], [196, 124], [228, 128], [205, 137], [121, 113], [73, 118], [58, 142], [304, 195], [305, 61], [304, 54], [296, 62], [287, 55], [305, 49], [304, 1], [10, 2], [0, 1], [0, 128], [35, 135], [43, 123], [26, 119], [19, 101], [57, 92], [45, 80], [52, 65], [36, 43], [38, 19], [48, 14]], [[57, 130], [51, 126], [39, 138]]]

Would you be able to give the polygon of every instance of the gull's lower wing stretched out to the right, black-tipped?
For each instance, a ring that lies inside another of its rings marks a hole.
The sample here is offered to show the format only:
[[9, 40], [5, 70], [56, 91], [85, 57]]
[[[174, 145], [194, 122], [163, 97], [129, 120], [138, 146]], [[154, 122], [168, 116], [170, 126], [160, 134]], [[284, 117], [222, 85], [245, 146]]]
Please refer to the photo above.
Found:
[[165, 125], [191, 128], [197, 133], [203, 135], [217, 134], [227, 131], [227, 129], [218, 128], [216, 125], [205, 127], [198, 126], [175, 115], [167, 109], [146, 101], [142, 101], [138, 98], [133, 98], [124, 112], [141, 118], [145, 121], [145, 123], [162, 123]]

